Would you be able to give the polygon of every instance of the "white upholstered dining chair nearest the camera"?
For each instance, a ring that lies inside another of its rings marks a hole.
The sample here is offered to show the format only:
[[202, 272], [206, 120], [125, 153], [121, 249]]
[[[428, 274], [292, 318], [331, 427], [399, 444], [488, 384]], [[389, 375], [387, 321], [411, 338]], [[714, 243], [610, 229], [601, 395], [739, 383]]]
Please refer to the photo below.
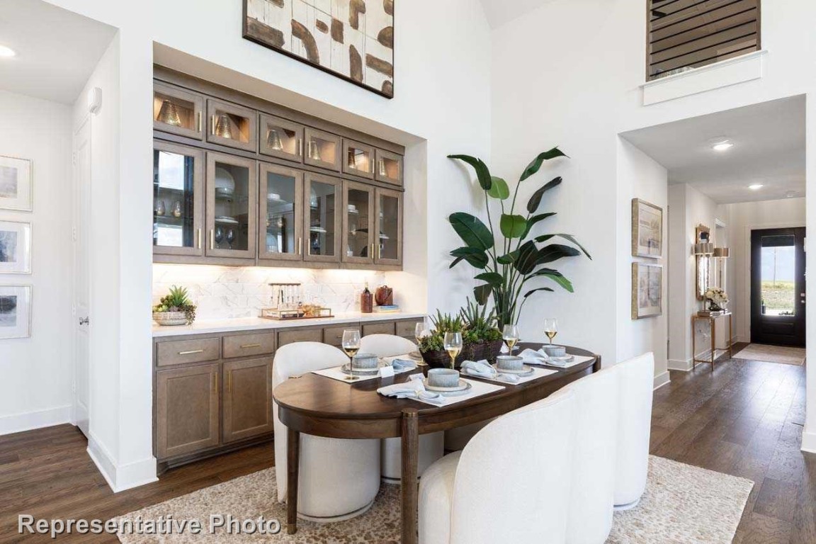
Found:
[[565, 542], [574, 401], [557, 391], [433, 463], [419, 483], [419, 544]]

